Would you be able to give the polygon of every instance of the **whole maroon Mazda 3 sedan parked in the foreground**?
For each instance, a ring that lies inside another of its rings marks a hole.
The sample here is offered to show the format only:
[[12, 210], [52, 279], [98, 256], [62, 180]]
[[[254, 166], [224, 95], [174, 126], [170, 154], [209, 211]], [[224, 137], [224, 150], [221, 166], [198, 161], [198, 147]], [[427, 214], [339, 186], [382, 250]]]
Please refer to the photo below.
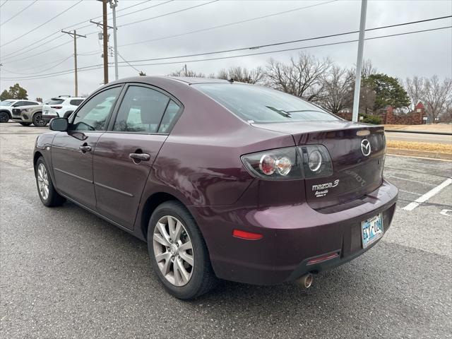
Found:
[[376, 244], [396, 208], [382, 126], [256, 85], [126, 78], [50, 129], [34, 152], [42, 203], [68, 199], [148, 242], [181, 299], [218, 278], [309, 287]]

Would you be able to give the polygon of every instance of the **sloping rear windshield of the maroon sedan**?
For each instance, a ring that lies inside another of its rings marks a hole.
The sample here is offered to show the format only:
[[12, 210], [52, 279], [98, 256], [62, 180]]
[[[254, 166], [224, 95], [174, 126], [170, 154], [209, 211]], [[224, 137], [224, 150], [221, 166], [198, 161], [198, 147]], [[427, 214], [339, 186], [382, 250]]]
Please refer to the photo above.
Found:
[[239, 83], [198, 83], [193, 86], [245, 121], [338, 120], [316, 105], [271, 88]]

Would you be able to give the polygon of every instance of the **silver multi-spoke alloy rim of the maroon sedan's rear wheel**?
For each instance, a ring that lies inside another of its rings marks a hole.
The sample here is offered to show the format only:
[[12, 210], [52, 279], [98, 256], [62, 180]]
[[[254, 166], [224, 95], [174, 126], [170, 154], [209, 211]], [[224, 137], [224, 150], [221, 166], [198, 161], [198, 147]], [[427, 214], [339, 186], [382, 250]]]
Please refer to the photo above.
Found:
[[155, 261], [165, 279], [174, 286], [189, 283], [194, 270], [194, 252], [186, 228], [176, 218], [165, 215], [154, 227]]

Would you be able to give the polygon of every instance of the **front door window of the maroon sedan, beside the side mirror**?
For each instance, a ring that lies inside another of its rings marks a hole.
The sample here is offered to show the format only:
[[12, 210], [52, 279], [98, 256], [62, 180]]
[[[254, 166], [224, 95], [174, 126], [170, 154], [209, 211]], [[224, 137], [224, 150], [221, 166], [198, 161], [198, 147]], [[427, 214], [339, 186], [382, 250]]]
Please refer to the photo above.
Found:
[[71, 131], [105, 131], [105, 123], [120, 91], [120, 87], [109, 88], [90, 98], [78, 110], [71, 124]]

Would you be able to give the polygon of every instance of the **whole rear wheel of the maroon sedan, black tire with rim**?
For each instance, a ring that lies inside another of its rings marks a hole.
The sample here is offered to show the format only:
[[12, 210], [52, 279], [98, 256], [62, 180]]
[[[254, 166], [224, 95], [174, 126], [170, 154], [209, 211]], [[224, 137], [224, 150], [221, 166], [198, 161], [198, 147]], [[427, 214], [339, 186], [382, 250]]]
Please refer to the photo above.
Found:
[[[172, 218], [173, 230], [177, 230], [178, 222], [182, 224], [179, 227], [179, 240], [175, 234], [177, 232], [171, 235], [169, 218]], [[162, 236], [162, 228], [167, 232], [166, 239], [165, 234]], [[183, 248], [186, 250], [179, 251]], [[201, 231], [189, 210], [179, 201], [167, 201], [155, 208], [148, 224], [148, 252], [155, 274], [174, 297], [196, 299], [218, 283]], [[162, 260], [157, 261], [159, 258]], [[164, 275], [165, 270], [167, 274]], [[185, 273], [189, 274], [188, 279]], [[183, 275], [187, 281], [184, 281]]]

